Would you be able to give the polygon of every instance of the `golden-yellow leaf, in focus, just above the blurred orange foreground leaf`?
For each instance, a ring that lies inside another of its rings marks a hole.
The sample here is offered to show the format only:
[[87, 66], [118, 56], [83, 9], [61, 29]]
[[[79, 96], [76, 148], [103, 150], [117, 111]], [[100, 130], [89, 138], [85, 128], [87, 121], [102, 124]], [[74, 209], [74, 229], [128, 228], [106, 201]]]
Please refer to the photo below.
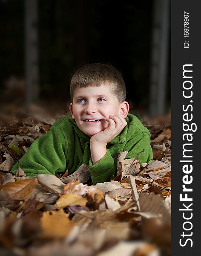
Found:
[[57, 209], [64, 208], [68, 205], [79, 205], [85, 206], [87, 199], [83, 198], [81, 195], [67, 194], [62, 195], [56, 202], [55, 207]]

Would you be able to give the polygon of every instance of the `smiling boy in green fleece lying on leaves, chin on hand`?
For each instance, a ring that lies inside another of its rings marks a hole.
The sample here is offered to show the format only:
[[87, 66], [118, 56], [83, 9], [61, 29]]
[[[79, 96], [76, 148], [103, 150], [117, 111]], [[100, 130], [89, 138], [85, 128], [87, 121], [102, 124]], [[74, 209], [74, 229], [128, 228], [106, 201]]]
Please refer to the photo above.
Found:
[[[19, 160], [27, 176], [75, 172], [89, 165], [93, 184], [116, 176], [117, 157], [138, 156], [141, 163], [152, 160], [150, 133], [129, 114], [124, 80], [114, 67], [88, 64], [75, 72], [70, 84], [70, 116], [52, 125]], [[18, 163], [11, 172], [16, 172]]]

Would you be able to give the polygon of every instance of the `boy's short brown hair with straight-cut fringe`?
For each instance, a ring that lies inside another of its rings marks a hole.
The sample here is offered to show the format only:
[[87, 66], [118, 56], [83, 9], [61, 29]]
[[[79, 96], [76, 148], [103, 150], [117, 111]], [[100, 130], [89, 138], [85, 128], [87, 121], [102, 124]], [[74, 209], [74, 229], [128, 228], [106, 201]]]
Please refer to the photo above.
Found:
[[111, 65], [101, 63], [86, 64], [75, 72], [70, 84], [71, 98], [75, 89], [101, 85], [108, 86], [118, 102], [125, 101], [126, 86], [121, 73]]

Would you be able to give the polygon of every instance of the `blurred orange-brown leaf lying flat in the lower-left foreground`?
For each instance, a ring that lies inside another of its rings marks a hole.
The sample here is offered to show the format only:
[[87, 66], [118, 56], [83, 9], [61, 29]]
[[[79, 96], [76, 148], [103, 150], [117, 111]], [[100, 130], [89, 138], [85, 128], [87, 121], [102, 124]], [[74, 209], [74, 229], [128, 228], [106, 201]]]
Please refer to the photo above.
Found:
[[75, 223], [69, 220], [69, 214], [66, 214], [63, 209], [43, 212], [40, 221], [43, 238], [65, 238], [75, 226]]

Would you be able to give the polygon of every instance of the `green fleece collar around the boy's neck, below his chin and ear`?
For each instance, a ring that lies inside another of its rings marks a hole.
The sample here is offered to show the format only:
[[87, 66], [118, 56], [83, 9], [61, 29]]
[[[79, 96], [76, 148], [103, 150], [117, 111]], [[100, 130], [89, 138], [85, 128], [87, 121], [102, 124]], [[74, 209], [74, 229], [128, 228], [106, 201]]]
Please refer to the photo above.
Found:
[[[72, 116], [69, 118], [69, 122], [72, 124], [75, 132], [78, 134], [78, 136], [84, 140], [90, 141], [90, 137], [83, 133], [83, 131], [78, 128], [78, 125], [75, 122], [75, 119], [72, 119]], [[126, 122], [129, 122], [129, 118], [126, 117]], [[113, 140], [111, 140], [108, 144], [121, 144], [126, 142], [126, 135], [128, 132], [128, 125], [126, 125], [125, 128], [116, 136]]]

